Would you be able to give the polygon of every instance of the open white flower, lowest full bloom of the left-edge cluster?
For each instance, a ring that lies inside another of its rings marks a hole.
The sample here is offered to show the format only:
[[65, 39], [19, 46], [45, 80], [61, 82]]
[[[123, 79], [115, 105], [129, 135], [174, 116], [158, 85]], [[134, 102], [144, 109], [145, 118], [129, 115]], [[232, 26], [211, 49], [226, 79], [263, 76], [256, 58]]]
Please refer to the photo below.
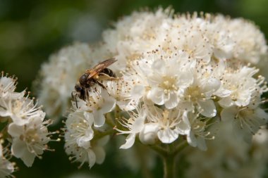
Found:
[[12, 154], [21, 158], [28, 167], [32, 166], [36, 156], [40, 158], [44, 150], [47, 150], [50, 141], [48, 122], [43, 122], [43, 119], [44, 117], [34, 116], [24, 125], [17, 125], [16, 122], [8, 125], [8, 134], [12, 136]]

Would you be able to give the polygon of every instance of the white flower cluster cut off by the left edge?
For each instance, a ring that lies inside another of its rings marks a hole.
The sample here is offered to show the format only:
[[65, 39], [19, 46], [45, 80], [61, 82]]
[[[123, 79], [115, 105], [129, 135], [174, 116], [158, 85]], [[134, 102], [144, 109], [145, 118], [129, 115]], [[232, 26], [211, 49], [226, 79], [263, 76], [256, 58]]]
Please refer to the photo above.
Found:
[[[49, 121], [44, 120], [45, 113], [37, 107], [29, 94], [25, 91], [16, 92], [16, 79], [8, 77], [2, 72], [0, 77], [0, 121], [6, 129], [1, 134], [11, 141], [11, 155], [23, 160], [28, 167], [32, 166], [35, 157], [40, 158], [44, 150], [47, 150], [47, 143], [50, 141], [47, 126]], [[4, 128], [4, 127], [3, 127]], [[7, 133], [6, 133], [7, 132]], [[2, 149], [1, 149], [2, 150]], [[13, 172], [1, 151], [1, 170], [8, 169]]]

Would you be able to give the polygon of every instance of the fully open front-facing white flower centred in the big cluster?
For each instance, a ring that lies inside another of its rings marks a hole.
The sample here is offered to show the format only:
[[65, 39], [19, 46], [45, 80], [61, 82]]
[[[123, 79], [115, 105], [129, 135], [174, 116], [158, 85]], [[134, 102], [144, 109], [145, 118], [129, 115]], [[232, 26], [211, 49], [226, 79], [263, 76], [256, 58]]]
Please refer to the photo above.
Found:
[[[174, 58], [164, 61], [158, 59], [152, 63], [152, 72], [148, 74], [147, 81], [151, 87], [147, 97], [158, 105], [166, 108], [175, 108], [179, 102], [179, 95], [183, 94], [186, 87], [193, 81], [189, 70], [183, 70], [179, 60]], [[178, 72], [180, 70], [180, 72]]]

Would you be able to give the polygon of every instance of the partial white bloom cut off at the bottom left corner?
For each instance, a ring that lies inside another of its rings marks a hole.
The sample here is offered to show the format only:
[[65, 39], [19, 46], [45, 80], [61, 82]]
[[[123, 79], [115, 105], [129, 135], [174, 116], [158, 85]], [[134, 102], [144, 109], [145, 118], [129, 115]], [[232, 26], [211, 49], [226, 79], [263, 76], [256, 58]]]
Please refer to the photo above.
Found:
[[5, 149], [0, 144], [0, 177], [13, 177], [11, 174], [15, 171], [14, 164], [5, 157]]

